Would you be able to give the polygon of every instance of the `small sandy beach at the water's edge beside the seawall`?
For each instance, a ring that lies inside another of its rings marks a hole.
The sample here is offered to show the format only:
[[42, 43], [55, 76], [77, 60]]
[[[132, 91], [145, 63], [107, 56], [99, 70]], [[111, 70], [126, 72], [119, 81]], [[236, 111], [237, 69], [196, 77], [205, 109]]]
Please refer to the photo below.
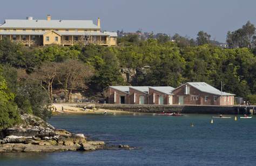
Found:
[[[57, 110], [53, 113], [64, 113], [64, 114], [132, 114], [132, 112], [125, 112], [121, 110], [110, 110], [110, 109], [86, 109], [76, 107], [76, 103], [53, 103], [52, 107]], [[63, 111], [62, 111], [63, 107]]]

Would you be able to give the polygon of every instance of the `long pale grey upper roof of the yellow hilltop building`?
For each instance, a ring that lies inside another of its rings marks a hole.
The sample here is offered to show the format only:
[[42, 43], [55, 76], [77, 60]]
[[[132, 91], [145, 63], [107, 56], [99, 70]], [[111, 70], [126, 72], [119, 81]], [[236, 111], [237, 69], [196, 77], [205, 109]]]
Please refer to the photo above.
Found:
[[6, 19], [0, 27], [40, 29], [100, 29], [92, 20]]

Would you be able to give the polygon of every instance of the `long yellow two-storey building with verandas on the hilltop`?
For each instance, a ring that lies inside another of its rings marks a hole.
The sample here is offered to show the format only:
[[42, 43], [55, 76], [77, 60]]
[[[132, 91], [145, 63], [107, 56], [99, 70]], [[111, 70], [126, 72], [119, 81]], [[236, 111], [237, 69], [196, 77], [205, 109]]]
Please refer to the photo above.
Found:
[[102, 32], [100, 19], [97, 25], [92, 20], [52, 20], [47, 19], [6, 19], [0, 24], [0, 40], [8, 38], [27, 46], [31, 45], [74, 45], [98, 44], [117, 45], [116, 32]]

